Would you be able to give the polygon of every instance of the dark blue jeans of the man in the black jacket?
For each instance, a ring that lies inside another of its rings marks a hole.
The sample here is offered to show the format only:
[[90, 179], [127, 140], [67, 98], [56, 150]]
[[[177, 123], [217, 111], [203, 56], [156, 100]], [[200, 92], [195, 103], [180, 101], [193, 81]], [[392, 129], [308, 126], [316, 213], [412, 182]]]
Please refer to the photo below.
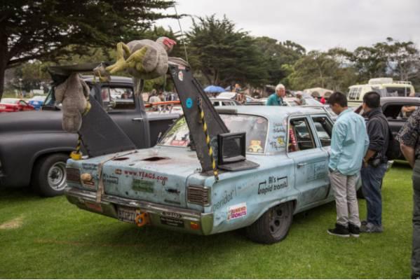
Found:
[[367, 223], [382, 225], [382, 196], [381, 185], [385, 176], [386, 163], [381, 163], [378, 167], [362, 167], [362, 191], [365, 195], [367, 206]]

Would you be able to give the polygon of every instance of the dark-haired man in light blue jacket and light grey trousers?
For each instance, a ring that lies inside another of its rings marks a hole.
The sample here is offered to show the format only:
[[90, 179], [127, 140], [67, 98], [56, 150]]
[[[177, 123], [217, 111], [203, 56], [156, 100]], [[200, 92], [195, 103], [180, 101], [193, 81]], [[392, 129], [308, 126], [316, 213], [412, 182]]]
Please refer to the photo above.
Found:
[[337, 222], [335, 228], [327, 232], [339, 237], [358, 237], [360, 219], [355, 185], [369, 145], [365, 119], [354, 113], [353, 109], [348, 109], [346, 95], [341, 92], [331, 94], [328, 104], [338, 118], [332, 127], [331, 155], [328, 163], [337, 208]]

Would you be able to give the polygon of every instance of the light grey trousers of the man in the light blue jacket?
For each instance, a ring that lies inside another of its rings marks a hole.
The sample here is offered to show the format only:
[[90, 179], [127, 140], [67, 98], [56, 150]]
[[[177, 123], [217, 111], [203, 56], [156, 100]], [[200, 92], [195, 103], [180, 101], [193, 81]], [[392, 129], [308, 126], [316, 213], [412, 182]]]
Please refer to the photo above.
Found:
[[348, 226], [349, 223], [360, 227], [359, 205], [356, 197], [355, 184], [358, 174], [346, 176], [338, 171], [330, 173], [330, 182], [334, 190], [335, 207], [337, 208], [337, 223]]

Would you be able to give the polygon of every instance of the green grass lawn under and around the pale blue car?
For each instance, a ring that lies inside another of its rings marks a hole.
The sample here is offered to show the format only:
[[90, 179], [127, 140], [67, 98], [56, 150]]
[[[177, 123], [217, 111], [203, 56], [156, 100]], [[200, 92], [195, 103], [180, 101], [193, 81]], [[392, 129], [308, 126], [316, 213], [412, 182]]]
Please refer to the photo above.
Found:
[[[136, 228], [28, 190], [0, 190], [0, 278], [409, 278], [411, 169], [384, 181], [384, 233], [327, 235], [334, 203], [294, 216], [287, 238], [207, 237]], [[365, 218], [365, 201], [359, 201]]]

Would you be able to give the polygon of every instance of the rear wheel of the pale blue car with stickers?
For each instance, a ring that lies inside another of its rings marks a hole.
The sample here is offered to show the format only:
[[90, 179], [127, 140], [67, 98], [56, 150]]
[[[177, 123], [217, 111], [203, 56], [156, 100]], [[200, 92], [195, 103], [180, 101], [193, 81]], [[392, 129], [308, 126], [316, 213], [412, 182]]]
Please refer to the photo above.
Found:
[[266, 211], [255, 223], [247, 228], [247, 236], [252, 241], [273, 244], [282, 241], [289, 233], [293, 220], [293, 203], [285, 202]]

